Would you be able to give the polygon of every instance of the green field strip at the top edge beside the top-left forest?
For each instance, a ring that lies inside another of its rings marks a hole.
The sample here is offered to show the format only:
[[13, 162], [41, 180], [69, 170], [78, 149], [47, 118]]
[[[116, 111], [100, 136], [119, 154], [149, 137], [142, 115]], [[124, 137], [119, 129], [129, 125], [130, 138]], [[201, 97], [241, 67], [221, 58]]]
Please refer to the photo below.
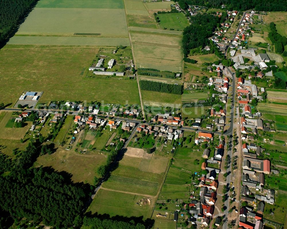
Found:
[[95, 8], [123, 9], [123, 0], [40, 0], [36, 8]]

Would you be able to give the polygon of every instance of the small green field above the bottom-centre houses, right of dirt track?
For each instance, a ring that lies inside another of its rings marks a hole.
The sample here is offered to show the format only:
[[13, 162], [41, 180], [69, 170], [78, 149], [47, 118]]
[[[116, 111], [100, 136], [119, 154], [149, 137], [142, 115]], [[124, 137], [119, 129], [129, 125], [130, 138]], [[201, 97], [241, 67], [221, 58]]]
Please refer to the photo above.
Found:
[[189, 185], [163, 184], [158, 200], [186, 199], [189, 197]]

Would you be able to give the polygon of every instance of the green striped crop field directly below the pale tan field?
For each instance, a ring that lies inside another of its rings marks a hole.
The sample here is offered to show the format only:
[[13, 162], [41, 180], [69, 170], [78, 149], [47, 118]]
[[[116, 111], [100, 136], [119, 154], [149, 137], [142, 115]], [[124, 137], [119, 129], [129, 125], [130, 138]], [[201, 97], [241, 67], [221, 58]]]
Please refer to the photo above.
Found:
[[158, 173], [118, 167], [112, 172], [109, 179], [103, 183], [102, 187], [154, 196], [162, 179], [163, 175]]

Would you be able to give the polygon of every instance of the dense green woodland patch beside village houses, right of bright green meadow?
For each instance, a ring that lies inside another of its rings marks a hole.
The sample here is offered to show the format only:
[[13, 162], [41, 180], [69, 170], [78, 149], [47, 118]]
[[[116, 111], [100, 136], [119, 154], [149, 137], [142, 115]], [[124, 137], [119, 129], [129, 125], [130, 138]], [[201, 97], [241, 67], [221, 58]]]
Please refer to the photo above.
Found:
[[208, 38], [212, 36], [214, 30], [219, 26], [221, 20], [212, 14], [198, 14], [192, 17], [192, 23], [183, 31], [183, 54], [185, 57], [193, 48], [201, 47], [210, 44]]

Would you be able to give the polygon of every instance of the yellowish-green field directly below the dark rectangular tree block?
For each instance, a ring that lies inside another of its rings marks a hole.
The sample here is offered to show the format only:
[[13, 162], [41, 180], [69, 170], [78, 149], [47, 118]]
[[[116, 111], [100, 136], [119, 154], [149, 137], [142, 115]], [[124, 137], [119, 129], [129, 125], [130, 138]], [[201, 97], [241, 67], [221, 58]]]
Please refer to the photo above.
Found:
[[141, 91], [144, 105], [151, 106], [168, 106], [168, 104], [181, 106], [181, 95], [157, 92], [157, 91]]

